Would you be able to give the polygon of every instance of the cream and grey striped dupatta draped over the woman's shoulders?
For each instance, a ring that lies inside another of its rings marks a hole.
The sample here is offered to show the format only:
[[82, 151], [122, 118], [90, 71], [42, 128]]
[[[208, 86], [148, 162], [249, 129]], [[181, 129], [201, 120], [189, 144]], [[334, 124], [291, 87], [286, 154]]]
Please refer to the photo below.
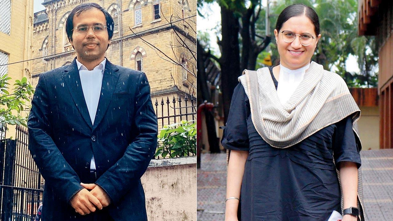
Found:
[[[250, 101], [251, 119], [264, 141], [272, 147], [295, 145], [328, 125], [352, 116], [356, 145], [362, 148], [357, 120], [360, 109], [345, 81], [323, 66], [311, 62], [303, 81], [290, 99], [281, 104], [269, 68], [244, 70], [239, 81]], [[338, 180], [340, 172], [337, 170]], [[341, 187], [341, 183], [340, 183]], [[358, 169], [358, 219], [364, 220], [362, 172]], [[343, 197], [341, 199], [343, 208]]]

